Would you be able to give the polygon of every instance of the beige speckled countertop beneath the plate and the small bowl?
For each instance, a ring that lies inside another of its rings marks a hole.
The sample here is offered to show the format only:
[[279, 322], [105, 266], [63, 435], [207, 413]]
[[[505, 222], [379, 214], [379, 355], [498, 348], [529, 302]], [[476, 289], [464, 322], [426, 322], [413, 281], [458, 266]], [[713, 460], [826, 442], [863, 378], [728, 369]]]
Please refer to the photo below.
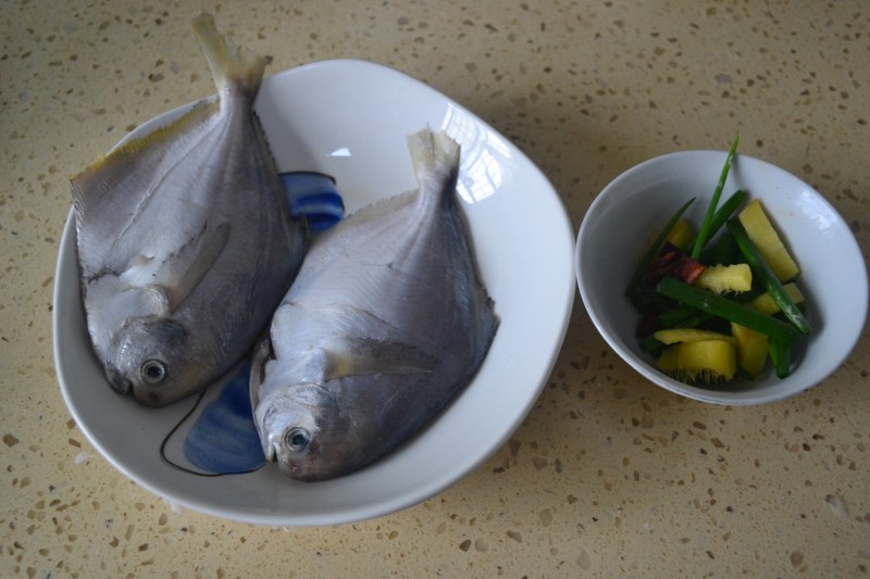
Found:
[[273, 529], [173, 509], [64, 405], [51, 300], [67, 176], [212, 92], [200, 9], [270, 71], [395, 66], [512, 139], [576, 228], [631, 165], [726, 147], [816, 186], [870, 248], [870, 7], [837, 2], [10, 0], [0, 13], [0, 576], [862, 577], [870, 569], [870, 342], [756, 407], [645, 382], [577, 300], [510, 443], [380, 519]]

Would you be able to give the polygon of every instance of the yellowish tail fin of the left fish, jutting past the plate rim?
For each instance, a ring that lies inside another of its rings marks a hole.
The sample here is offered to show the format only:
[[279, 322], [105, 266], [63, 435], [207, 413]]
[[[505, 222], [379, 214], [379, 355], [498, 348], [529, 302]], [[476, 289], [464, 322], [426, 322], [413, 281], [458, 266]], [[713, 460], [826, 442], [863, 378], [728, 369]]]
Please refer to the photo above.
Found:
[[209, 63], [214, 86], [219, 91], [243, 86], [256, 95], [263, 79], [268, 60], [237, 46], [228, 35], [217, 30], [214, 16], [201, 12], [192, 23], [202, 53]]

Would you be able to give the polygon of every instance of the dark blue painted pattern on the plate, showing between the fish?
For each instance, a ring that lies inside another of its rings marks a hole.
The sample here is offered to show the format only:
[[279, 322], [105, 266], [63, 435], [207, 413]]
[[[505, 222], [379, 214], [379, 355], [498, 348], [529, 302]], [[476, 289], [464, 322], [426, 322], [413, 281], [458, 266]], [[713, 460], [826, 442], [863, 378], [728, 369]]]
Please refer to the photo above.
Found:
[[[312, 172], [283, 173], [281, 182], [290, 213], [304, 215], [312, 231], [322, 231], [345, 215], [341, 196], [328, 175]], [[211, 474], [245, 473], [264, 461], [253, 424], [246, 362], [197, 417], [184, 441], [184, 455], [197, 468]]]

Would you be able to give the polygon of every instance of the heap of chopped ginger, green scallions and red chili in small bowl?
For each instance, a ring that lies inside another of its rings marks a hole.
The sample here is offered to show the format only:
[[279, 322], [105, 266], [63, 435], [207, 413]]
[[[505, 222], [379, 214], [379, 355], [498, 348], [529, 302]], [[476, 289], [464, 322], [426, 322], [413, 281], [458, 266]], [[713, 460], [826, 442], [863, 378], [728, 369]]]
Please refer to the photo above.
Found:
[[[793, 349], [810, 326], [805, 299], [790, 281], [799, 269], [761, 202], [741, 210], [747, 192], [719, 200], [734, 156], [735, 136], [698, 232], [681, 206], [645, 253], [627, 288], [641, 314], [641, 351], [686, 382], [751, 380], [772, 365], [792, 372]], [[726, 226], [725, 230], [720, 231]]]

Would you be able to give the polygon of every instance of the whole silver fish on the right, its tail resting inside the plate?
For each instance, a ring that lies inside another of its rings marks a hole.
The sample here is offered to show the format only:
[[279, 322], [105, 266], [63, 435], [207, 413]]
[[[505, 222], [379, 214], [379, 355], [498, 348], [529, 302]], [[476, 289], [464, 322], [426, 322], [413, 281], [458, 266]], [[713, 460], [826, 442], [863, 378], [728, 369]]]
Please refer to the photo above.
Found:
[[298, 480], [395, 449], [475, 374], [498, 319], [456, 200], [459, 144], [409, 137], [419, 189], [316, 238], [251, 369], [265, 456]]

